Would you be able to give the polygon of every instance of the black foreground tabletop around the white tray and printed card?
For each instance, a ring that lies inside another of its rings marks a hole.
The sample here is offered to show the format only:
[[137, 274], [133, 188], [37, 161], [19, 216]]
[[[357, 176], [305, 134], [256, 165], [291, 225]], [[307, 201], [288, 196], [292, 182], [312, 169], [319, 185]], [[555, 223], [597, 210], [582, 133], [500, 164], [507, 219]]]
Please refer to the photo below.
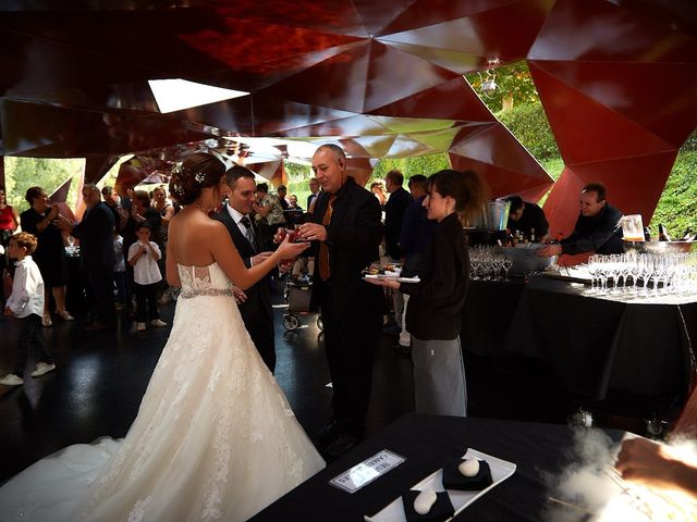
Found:
[[[624, 433], [603, 432], [615, 442]], [[570, 427], [552, 424], [409, 414], [250, 520], [360, 521], [472, 447], [513, 462], [517, 469], [455, 520], [537, 522], [549, 508], [549, 482], [573, 460], [573, 434]], [[331, 478], [382, 449], [406, 461], [353, 495], [329, 485]]]

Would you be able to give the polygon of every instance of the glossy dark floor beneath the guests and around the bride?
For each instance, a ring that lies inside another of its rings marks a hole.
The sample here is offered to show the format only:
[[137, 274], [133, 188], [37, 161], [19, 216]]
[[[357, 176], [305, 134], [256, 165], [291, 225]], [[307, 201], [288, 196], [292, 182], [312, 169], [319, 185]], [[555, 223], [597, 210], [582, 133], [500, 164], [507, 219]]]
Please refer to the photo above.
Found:
[[[310, 437], [330, 417], [331, 389], [317, 315], [285, 332], [277, 293], [277, 380]], [[170, 323], [174, 303], [161, 307]], [[134, 331], [124, 314], [112, 332], [85, 333], [83, 314], [44, 328], [58, 369], [23, 386], [0, 386], [0, 483], [64, 446], [100, 436], [123, 437], [167, 341], [169, 327]], [[12, 369], [16, 321], [0, 319], [0, 374]], [[408, 355], [383, 336], [376, 356], [367, 436], [413, 410]], [[29, 369], [33, 368], [33, 361]], [[466, 357], [469, 414], [564, 423], [574, 405], [538, 364], [524, 360]], [[622, 426], [625, 427], [625, 426]]]

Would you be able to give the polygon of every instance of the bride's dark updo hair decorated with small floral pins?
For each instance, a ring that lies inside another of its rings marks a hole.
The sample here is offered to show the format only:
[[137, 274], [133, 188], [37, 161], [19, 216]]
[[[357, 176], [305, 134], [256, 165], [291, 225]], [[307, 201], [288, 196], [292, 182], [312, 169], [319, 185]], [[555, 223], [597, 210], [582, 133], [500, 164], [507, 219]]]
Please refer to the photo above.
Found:
[[215, 187], [225, 174], [225, 165], [212, 154], [194, 152], [172, 169], [170, 194], [180, 204], [192, 204], [200, 191]]

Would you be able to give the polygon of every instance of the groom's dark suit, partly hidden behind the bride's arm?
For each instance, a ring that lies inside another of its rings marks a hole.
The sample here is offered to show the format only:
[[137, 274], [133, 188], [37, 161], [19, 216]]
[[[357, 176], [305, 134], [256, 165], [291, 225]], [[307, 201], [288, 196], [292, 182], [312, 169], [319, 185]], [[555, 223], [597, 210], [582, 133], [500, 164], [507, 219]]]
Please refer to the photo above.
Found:
[[[258, 250], [244, 237], [242, 232], [240, 232], [240, 227], [230, 216], [227, 207], [223, 207], [215, 217], [228, 228], [245, 266], [248, 268], [252, 265], [250, 258], [258, 252], [272, 249], [270, 248], [270, 238], [262, 235], [261, 229], [255, 225], [254, 219], [250, 219], [250, 221], [252, 226], [254, 226]], [[273, 310], [271, 309], [268, 277], [262, 277], [261, 281], [244, 290], [244, 293], [247, 295], [247, 300], [240, 304], [242, 320], [261, 359], [264, 359], [268, 369], [273, 373], [273, 369], [276, 368], [276, 343], [273, 339]]]

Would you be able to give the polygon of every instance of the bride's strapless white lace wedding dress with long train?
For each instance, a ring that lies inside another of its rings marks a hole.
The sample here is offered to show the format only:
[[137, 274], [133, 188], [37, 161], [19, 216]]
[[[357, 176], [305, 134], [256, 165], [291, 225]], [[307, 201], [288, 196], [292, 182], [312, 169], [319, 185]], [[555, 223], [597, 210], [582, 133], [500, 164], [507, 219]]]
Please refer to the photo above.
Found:
[[36, 462], [0, 488], [0, 521], [246, 520], [325, 467], [222, 270], [179, 273], [172, 332], [125, 438]]

